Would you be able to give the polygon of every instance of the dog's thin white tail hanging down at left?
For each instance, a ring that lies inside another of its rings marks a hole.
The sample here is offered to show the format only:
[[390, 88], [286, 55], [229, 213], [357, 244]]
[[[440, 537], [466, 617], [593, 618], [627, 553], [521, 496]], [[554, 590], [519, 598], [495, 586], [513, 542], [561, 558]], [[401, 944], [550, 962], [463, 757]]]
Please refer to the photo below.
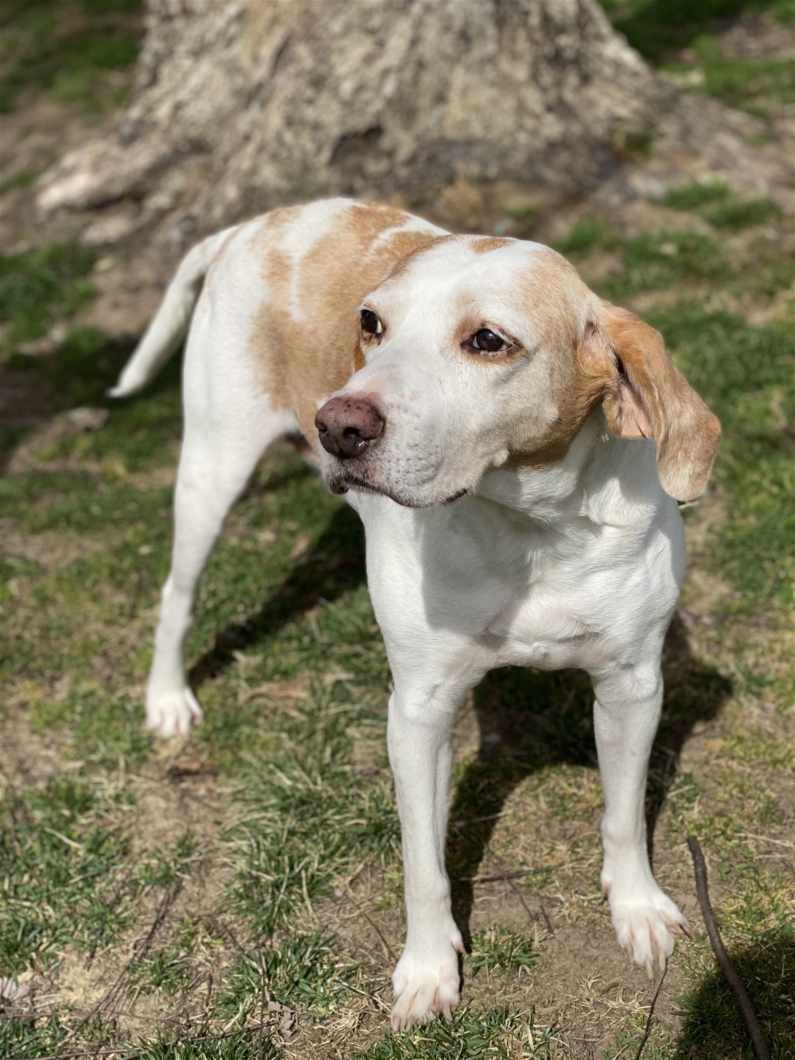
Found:
[[207, 270], [231, 231], [228, 228], [217, 235], [211, 235], [183, 258], [154, 320], [122, 369], [119, 382], [108, 390], [109, 398], [128, 398], [143, 390], [179, 348], [191, 322]]

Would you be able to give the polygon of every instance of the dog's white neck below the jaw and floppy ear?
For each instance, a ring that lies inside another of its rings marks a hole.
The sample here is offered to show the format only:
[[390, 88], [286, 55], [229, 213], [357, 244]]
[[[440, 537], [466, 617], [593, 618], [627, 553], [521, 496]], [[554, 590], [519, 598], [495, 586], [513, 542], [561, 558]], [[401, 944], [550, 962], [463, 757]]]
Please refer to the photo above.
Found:
[[591, 412], [562, 460], [541, 470], [487, 472], [476, 495], [550, 528], [577, 516], [632, 526], [675, 504], [659, 484], [654, 443], [614, 437], [601, 409]]

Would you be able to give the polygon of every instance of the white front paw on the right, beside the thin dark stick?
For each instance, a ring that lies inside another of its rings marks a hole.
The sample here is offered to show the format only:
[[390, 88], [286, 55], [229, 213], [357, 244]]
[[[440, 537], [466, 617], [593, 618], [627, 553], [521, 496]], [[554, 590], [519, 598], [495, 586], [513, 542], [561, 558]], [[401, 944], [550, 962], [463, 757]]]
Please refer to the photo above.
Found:
[[611, 886], [602, 877], [602, 887], [610, 893], [618, 944], [650, 978], [655, 961], [660, 971], [665, 969], [676, 935], [692, 938], [687, 920], [654, 880], [630, 890]]

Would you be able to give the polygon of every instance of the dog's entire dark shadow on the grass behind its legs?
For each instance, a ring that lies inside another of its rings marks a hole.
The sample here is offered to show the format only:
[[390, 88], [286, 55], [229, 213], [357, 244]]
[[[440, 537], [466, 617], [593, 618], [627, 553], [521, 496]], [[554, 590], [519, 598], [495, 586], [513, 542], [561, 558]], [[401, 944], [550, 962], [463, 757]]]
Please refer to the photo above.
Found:
[[[312, 549], [290, 568], [260, 611], [216, 635], [213, 647], [191, 670], [192, 685], [198, 687], [232, 665], [235, 651], [267, 639], [321, 599], [332, 602], [364, 581], [364, 529], [346, 505], [334, 512]], [[666, 638], [662, 670], [665, 705], [647, 790], [650, 847], [692, 726], [714, 717], [731, 693], [729, 681], [692, 656], [676, 617]], [[384, 695], [386, 700], [386, 689]], [[480, 747], [456, 785], [446, 858], [454, 914], [467, 946], [473, 905], [473, 885], [467, 878], [477, 876], [511, 792], [547, 765], [596, 765], [594, 692], [584, 673], [518, 667], [495, 670], [475, 689], [474, 699]]]

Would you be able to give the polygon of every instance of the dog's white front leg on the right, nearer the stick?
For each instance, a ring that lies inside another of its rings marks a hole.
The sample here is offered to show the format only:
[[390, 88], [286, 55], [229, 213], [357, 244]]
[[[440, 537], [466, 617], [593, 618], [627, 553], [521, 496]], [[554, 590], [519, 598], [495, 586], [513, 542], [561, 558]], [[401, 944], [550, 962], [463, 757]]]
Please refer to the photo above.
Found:
[[610, 899], [619, 946], [652, 974], [665, 967], [687, 920], [658, 886], [646, 840], [646, 779], [662, 706], [657, 665], [613, 667], [591, 675], [594, 730], [604, 788], [602, 891]]

